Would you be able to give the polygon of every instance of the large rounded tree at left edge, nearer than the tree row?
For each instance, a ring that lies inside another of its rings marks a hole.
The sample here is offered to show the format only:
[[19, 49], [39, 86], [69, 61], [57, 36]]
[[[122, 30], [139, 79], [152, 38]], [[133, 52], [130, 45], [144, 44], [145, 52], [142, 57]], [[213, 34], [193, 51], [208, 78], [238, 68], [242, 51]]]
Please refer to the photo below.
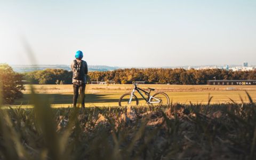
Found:
[[2, 86], [0, 93], [5, 104], [11, 104], [15, 99], [22, 98], [21, 91], [25, 90], [22, 75], [15, 73], [9, 65], [0, 65], [0, 84]]

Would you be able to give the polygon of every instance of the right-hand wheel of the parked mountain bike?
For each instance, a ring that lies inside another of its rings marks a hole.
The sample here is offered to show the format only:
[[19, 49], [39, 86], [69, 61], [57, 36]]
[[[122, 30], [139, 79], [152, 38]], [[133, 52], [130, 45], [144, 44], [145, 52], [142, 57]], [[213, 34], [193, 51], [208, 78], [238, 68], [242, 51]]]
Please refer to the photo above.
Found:
[[170, 99], [168, 95], [164, 92], [157, 92], [152, 97], [153, 98], [150, 100], [150, 104], [153, 106], [169, 106], [170, 105]]

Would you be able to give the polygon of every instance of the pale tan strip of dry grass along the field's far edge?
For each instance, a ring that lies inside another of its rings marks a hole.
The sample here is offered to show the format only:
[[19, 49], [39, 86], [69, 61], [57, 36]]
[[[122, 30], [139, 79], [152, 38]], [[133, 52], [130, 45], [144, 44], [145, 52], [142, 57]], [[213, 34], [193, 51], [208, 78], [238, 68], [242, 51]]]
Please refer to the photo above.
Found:
[[[71, 93], [73, 92], [72, 85], [33, 85], [37, 93]], [[26, 91], [24, 93], [30, 93], [29, 85], [25, 85]], [[139, 85], [142, 89], [148, 87], [154, 88], [159, 91], [177, 92], [177, 91], [256, 91], [256, 86], [213, 86], [213, 85], [165, 85], [165, 84], [147, 84]], [[98, 93], [108, 92], [125, 92], [131, 91], [133, 85], [131, 84], [116, 84], [116, 85], [86, 85], [86, 92], [92, 93], [98, 91]]]

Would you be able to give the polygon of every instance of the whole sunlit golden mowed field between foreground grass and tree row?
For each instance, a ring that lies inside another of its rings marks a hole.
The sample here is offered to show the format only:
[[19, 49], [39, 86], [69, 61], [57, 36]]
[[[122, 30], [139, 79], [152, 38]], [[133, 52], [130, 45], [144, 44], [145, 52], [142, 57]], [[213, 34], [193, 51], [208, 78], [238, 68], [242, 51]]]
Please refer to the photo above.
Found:
[[[29, 107], [31, 105], [30, 86], [26, 85], [22, 99], [16, 100], [13, 106]], [[52, 107], [71, 107], [73, 98], [72, 85], [33, 85], [35, 92], [42, 98], [50, 100]], [[148, 87], [156, 89], [152, 92], [163, 91], [170, 97], [172, 103], [194, 103], [206, 104], [209, 97], [213, 97], [211, 103], [228, 103], [230, 99], [237, 103], [249, 102], [245, 91], [249, 92], [253, 100], [256, 100], [256, 86], [212, 86], [212, 85], [161, 85], [148, 84], [139, 85], [144, 90]], [[87, 107], [112, 107], [118, 106], [118, 100], [122, 94], [131, 92], [133, 85], [86, 85], [86, 106]], [[136, 93], [139, 104], [145, 105], [145, 101]]]

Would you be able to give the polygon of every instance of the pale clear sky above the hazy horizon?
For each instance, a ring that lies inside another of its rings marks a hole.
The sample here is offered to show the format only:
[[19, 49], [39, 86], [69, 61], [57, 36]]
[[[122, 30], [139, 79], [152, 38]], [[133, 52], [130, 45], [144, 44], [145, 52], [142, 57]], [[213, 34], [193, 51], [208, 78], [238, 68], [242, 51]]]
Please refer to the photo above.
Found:
[[256, 65], [256, 1], [0, 0], [0, 63]]

